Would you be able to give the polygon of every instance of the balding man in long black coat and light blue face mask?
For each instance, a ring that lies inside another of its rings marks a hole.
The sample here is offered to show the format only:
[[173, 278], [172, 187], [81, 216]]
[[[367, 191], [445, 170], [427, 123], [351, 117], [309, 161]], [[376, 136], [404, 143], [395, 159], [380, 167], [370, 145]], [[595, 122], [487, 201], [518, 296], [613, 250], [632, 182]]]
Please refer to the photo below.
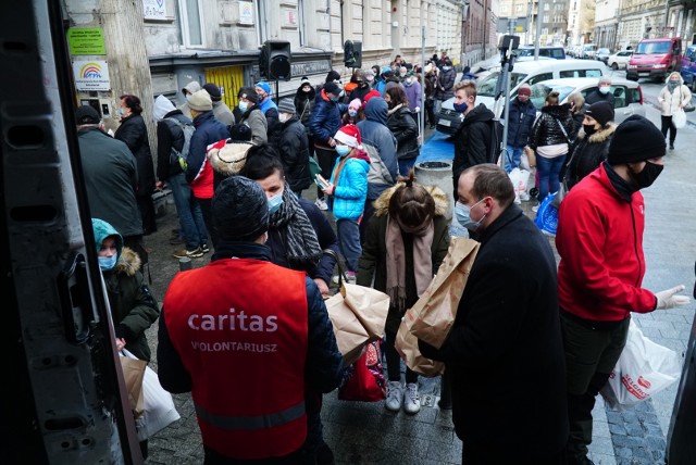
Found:
[[499, 166], [464, 171], [458, 194], [457, 219], [481, 248], [447, 340], [419, 347], [450, 374], [462, 463], [563, 464], [569, 426], [554, 252], [514, 205]]

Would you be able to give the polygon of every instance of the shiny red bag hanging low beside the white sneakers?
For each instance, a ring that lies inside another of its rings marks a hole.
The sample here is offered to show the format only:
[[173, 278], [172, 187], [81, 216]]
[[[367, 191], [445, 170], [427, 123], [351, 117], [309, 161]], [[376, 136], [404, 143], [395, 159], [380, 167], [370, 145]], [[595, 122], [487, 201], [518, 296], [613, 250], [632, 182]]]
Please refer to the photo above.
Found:
[[387, 397], [382, 373], [382, 341], [370, 342], [365, 352], [344, 373], [338, 386], [343, 401], [378, 402]]

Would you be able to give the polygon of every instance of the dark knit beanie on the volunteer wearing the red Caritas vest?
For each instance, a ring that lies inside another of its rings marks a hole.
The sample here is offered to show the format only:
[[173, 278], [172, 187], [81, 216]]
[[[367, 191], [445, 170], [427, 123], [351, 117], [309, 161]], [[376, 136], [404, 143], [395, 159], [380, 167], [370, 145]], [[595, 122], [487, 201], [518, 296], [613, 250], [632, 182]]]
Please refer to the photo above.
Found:
[[261, 186], [244, 176], [229, 176], [215, 189], [213, 226], [225, 241], [253, 241], [269, 230], [269, 202]]

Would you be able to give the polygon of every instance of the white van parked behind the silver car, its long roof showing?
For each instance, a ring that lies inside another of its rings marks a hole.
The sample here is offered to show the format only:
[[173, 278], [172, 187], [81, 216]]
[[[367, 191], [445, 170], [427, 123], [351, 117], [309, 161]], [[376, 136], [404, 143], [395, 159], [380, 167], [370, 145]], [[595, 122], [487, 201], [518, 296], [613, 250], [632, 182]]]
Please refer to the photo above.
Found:
[[[597, 77], [610, 73], [609, 67], [598, 60], [537, 60], [514, 63], [510, 73], [510, 98], [518, 95], [518, 88], [522, 83], [530, 86], [542, 80], [557, 79], [560, 77]], [[496, 85], [502, 72], [498, 68], [476, 80], [476, 105], [485, 104], [493, 110], [496, 116], [502, 112], [505, 99], [495, 101]], [[494, 108], [495, 106], [495, 108]], [[443, 102], [438, 114], [437, 130], [455, 134], [461, 124], [461, 113], [455, 111], [455, 98]]]

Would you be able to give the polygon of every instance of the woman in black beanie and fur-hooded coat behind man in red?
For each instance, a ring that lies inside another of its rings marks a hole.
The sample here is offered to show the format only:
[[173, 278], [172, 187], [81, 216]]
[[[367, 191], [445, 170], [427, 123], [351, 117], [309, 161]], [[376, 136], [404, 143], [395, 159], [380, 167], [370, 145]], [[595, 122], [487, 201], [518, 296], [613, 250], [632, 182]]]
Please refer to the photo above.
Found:
[[566, 166], [566, 175], [562, 176], [569, 189], [607, 160], [609, 142], [616, 130], [611, 103], [602, 101], [589, 105]]

